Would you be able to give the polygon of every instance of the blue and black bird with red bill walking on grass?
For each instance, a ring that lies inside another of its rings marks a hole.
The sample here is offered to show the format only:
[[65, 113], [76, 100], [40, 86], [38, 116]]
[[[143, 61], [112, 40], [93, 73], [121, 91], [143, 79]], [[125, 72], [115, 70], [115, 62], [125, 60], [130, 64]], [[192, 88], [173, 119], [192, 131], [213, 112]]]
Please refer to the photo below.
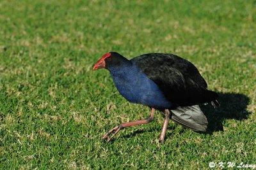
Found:
[[148, 124], [154, 112], [164, 116], [159, 142], [163, 143], [169, 120], [196, 132], [207, 130], [208, 120], [199, 104], [220, 106], [218, 94], [207, 89], [207, 83], [194, 64], [172, 53], [146, 53], [129, 60], [117, 52], [105, 53], [93, 70], [110, 72], [118, 92], [129, 102], [150, 108], [143, 120], [117, 125], [104, 134], [108, 142], [126, 127]]

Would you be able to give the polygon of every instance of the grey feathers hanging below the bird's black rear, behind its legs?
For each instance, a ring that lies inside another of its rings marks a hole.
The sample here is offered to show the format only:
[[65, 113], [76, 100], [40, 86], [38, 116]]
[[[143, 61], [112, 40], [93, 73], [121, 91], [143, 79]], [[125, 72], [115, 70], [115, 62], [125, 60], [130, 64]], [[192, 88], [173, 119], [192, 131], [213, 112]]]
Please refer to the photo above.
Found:
[[193, 131], [205, 132], [208, 121], [198, 105], [178, 107], [172, 110], [172, 120]]

